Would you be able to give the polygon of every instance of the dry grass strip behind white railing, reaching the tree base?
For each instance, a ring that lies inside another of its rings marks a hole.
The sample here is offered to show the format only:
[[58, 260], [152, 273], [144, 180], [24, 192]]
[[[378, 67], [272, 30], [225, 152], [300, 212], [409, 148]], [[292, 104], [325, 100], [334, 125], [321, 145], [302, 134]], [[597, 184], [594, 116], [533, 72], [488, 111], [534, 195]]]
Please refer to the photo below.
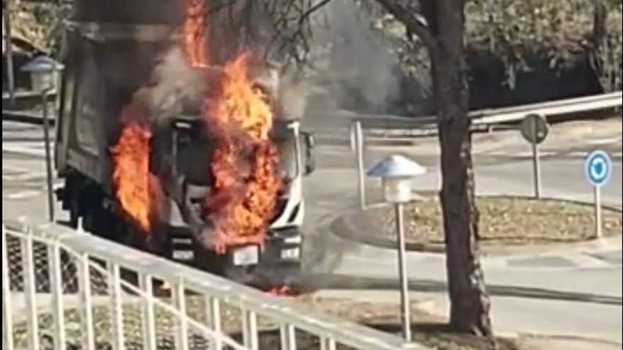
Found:
[[[346, 320], [358, 322], [362, 325], [374, 327], [384, 332], [399, 334], [399, 310], [397, 305], [384, 303], [370, 303], [349, 301], [346, 299], [322, 299], [311, 296], [297, 296], [294, 298], [302, 310], [314, 310], [327, 313]], [[168, 301], [166, 301], [168, 303]], [[187, 296], [188, 317], [198, 322], [205, 322], [205, 304], [199, 296]], [[174, 349], [175, 317], [163, 308], [156, 306], [156, 334], [158, 349]], [[127, 349], [142, 349], [141, 308], [136, 303], [123, 305], [124, 336]], [[222, 304], [222, 327], [231, 334], [233, 339], [241, 341], [241, 313], [235, 305]], [[514, 342], [509, 339], [496, 339], [498, 348], [493, 347], [490, 339], [482, 339], [465, 334], [452, 332], [444, 324], [444, 320], [435, 315], [425, 313], [418, 308], [412, 308], [413, 340], [439, 350], [518, 350]], [[69, 344], [78, 346], [81, 330], [79, 311], [66, 310], [66, 332]], [[49, 313], [39, 315], [40, 334], [52, 333], [52, 316]], [[261, 349], [280, 349], [280, 334], [278, 324], [258, 318], [258, 328]], [[93, 307], [93, 329], [97, 349], [109, 349], [111, 337], [110, 309], [108, 305]], [[14, 325], [13, 335], [16, 339], [16, 348], [25, 349], [28, 346], [25, 322]], [[297, 349], [319, 349], [318, 337], [297, 330]], [[207, 340], [192, 326], [189, 327], [189, 343], [192, 349], [209, 349]], [[42, 337], [42, 349], [52, 349], [50, 337]], [[79, 347], [76, 347], [79, 349]], [[226, 348], [227, 349], [227, 348]], [[338, 350], [352, 348], [339, 344]]]

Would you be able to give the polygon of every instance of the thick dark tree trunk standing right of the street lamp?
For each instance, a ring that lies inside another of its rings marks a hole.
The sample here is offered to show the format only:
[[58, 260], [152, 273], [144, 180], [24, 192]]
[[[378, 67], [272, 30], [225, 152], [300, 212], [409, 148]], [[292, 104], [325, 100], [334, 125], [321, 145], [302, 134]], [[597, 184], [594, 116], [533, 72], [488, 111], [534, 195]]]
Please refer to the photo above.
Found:
[[461, 332], [490, 336], [490, 303], [479, 262], [479, 212], [474, 193], [468, 88], [463, 52], [462, 0], [439, 1], [433, 89], [441, 148], [440, 193], [450, 293], [450, 324]]

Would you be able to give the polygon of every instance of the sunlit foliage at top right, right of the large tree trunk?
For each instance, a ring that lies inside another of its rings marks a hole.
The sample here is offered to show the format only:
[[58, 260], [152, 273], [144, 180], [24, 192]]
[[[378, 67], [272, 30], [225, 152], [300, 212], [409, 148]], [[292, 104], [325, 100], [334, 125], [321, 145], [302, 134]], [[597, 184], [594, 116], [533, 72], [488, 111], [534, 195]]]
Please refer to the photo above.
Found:
[[[527, 57], [538, 54], [556, 68], [590, 51], [594, 4], [592, 0], [472, 0], [466, 6], [466, 44], [500, 57], [512, 87], [516, 73], [530, 69]], [[611, 61], [610, 71], [603, 74], [618, 70], [619, 86], [621, 4], [620, 0], [607, 1], [609, 44], [607, 53], [602, 53]]]

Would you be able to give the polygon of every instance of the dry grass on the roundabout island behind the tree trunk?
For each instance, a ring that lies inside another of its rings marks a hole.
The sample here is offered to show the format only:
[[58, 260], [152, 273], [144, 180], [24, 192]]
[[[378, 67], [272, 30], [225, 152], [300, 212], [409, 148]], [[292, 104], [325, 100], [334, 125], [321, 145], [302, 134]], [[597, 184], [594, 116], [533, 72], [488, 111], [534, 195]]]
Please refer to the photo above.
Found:
[[[595, 235], [593, 206], [550, 199], [521, 197], [479, 197], [480, 236], [483, 245], [536, 245], [573, 243]], [[435, 197], [405, 207], [408, 242], [442, 244], [441, 207]], [[395, 239], [394, 211], [377, 207], [350, 220], [357, 229], [371, 235]], [[365, 229], [364, 229], [365, 228]], [[603, 210], [603, 235], [620, 235], [622, 214]]]

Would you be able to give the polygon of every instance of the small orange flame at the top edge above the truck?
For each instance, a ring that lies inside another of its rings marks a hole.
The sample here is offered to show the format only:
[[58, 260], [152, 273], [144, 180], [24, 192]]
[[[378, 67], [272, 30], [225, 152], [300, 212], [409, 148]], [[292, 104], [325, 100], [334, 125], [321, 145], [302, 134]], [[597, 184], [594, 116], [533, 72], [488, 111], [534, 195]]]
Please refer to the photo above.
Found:
[[189, 0], [183, 27], [183, 50], [194, 67], [207, 66], [204, 0]]

